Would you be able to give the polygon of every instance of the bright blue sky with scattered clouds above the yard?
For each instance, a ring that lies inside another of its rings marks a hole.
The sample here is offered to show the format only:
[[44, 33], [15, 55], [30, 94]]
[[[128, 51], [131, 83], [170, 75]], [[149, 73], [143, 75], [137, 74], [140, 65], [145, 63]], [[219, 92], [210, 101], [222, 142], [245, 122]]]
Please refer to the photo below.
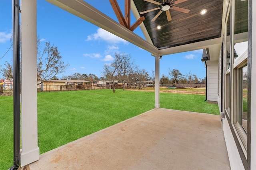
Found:
[[[117, 20], [108, 0], [85, 0], [110, 18]], [[124, 0], [118, 0], [121, 10]], [[133, 16], [132, 16], [133, 17]], [[73, 73], [96, 74], [101, 76], [104, 64], [111, 63], [116, 52], [130, 54], [140, 68], [146, 69], [151, 75], [154, 70], [154, 57], [151, 53], [127, 42], [103, 29], [84, 21], [68, 12], [46, 2], [37, 0], [37, 34], [42, 42], [50, 41], [58, 47], [65, 63], [70, 66], [64, 76]], [[135, 19], [131, 19], [134, 23]], [[134, 33], [143, 37], [140, 28]], [[0, 0], [0, 58], [11, 46], [12, 36], [12, 0]], [[165, 55], [160, 60], [160, 76], [168, 76], [168, 68], [178, 69], [182, 74], [192, 74], [198, 78], [205, 77], [204, 63], [201, 62], [202, 50]], [[12, 48], [0, 59], [0, 65], [11, 62]], [[0, 74], [0, 78], [2, 74]], [[58, 76], [62, 78], [62, 75]], [[170, 76], [169, 76], [170, 78]]]

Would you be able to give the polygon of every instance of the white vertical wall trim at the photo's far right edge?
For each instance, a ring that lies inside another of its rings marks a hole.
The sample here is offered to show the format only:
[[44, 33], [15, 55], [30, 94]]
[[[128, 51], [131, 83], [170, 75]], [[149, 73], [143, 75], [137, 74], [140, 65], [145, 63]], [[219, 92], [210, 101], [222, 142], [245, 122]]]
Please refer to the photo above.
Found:
[[[256, 1], [249, 0], [248, 37], [251, 35], [251, 47], [249, 44], [248, 55], [252, 57], [251, 63], [251, 170], [256, 169]], [[252, 18], [250, 18], [252, 15]], [[250, 24], [251, 23], [251, 24]], [[249, 41], [250, 42], [250, 41]], [[251, 52], [251, 54], [250, 54]], [[248, 56], [249, 57], [249, 56]], [[250, 62], [250, 61], [249, 61]], [[249, 65], [249, 64], [248, 64]], [[249, 71], [249, 70], [248, 70]]]

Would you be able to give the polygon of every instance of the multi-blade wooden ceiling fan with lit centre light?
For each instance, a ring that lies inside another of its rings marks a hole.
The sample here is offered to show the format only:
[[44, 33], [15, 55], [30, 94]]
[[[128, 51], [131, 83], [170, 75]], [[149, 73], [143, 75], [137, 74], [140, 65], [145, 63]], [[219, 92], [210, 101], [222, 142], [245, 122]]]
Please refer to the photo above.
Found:
[[160, 14], [165, 11], [166, 12], [166, 16], [167, 16], [167, 20], [168, 21], [171, 21], [172, 20], [172, 17], [171, 17], [171, 13], [170, 13], [170, 9], [172, 10], [176, 10], [176, 11], [180, 11], [180, 12], [184, 12], [184, 13], [188, 13], [190, 10], [188, 9], [185, 9], [185, 8], [180, 8], [180, 7], [177, 7], [177, 6], [174, 6], [176, 4], [180, 4], [182, 2], [185, 2], [185, 1], [188, 1], [188, 0], [176, 0], [173, 2], [173, 0], [163, 0], [163, 3], [160, 3], [160, 2], [156, 2], [154, 0], [144, 0], [146, 2], [150, 2], [152, 4], [157, 4], [157, 5], [160, 5], [160, 7], [157, 7], [157, 8], [153, 8], [151, 10], [146, 10], [146, 11], [143, 11], [143, 12], [140, 12], [140, 14], [145, 14], [147, 12], [151, 12], [151, 11], [154, 11], [154, 10], [159, 10], [160, 11], [158, 12], [158, 14], [156, 14], [156, 16], [151, 20], [151, 21], [155, 21], [156, 18], [158, 18], [158, 16], [160, 16]]

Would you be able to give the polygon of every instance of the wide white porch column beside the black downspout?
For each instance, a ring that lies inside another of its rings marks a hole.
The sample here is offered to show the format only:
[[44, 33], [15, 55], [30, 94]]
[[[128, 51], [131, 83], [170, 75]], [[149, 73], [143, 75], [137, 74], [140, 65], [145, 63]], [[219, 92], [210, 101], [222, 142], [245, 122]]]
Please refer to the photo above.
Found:
[[21, 1], [21, 166], [39, 159], [37, 134], [36, 0]]

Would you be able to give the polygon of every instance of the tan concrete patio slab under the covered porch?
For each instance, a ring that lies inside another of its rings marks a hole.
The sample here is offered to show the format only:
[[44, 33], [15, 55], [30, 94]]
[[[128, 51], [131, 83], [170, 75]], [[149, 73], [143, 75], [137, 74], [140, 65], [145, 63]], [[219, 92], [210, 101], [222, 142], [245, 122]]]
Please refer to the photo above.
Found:
[[50, 150], [29, 170], [230, 169], [219, 115], [152, 109]]

